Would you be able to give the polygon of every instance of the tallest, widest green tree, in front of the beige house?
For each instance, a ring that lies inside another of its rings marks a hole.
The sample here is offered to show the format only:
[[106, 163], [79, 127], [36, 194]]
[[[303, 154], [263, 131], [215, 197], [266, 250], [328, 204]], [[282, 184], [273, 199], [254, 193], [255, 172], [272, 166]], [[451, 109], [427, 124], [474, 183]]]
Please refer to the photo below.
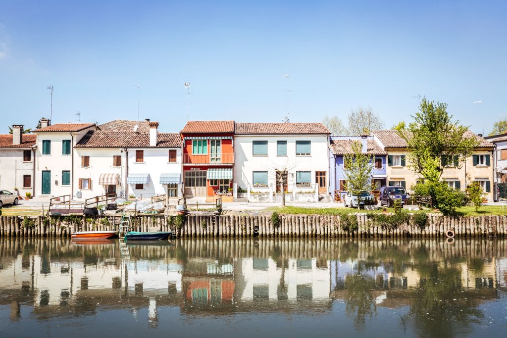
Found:
[[419, 111], [412, 116], [414, 122], [408, 129], [396, 129], [397, 134], [407, 142], [409, 154], [408, 167], [424, 176], [427, 174], [427, 164], [440, 162], [437, 177], [424, 178], [432, 181], [440, 179], [447, 165], [460, 168], [464, 159], [471, 156], [474, 148], [479, 145], [476, 137], [465, 135], [467, 126], [453, 121], [447, 112], [447, 104], [434, 103], [423, 98]]

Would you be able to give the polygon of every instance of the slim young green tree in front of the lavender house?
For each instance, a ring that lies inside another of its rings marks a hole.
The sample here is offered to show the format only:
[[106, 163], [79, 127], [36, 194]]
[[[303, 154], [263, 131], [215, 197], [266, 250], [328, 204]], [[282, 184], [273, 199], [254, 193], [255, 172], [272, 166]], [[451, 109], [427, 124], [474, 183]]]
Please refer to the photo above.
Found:
[[[372, 189], [373, 156], [363, 153], [361, 142], [352, 142], [352, 153], [343, 157], [345, 165], [345, 179], [347, 190], [357, 196], [358, 202], [361, 193]], [[359, 208], [359, 203], [357, 203]]]

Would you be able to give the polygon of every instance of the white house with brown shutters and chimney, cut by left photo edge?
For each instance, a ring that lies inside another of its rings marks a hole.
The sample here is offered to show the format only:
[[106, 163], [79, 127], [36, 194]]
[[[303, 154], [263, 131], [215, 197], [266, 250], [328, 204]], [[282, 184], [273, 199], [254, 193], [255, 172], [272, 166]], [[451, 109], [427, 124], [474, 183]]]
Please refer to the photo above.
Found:
[[23, 134], [22, 125], [12, 126], [12, 135], [0, 135], [0, 190], [19, 196], [34, 195], [35, 135]]

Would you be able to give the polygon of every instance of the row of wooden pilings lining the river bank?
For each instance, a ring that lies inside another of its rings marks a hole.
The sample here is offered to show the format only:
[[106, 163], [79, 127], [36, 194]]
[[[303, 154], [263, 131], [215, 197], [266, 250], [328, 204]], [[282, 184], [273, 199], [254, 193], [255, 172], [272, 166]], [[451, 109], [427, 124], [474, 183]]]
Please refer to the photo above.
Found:
[[[25, 216], [26, 217], [26, 216]], [[121, 216], [86, 218], [79, 216], [42, 217], [26, 220], [18, 216], [0, 217], [0, 236], [70, 236], [77, 231], [115, 231]], [[366, 214], [355, 214], [357, 229], [343, 229], [343, 217], [338, 215], [280, 214], [274, 226], [270, 214], [261, 215], [188, 215], [184, 224], [176, 216], [147, 215], [133, 218], [133, 231], [174, 231], [178, 237], [445, 237], [448, 230], [457, 237], [488, 237], [507, 234], [506, 216], [451, 217], [428, 214], [424, 227], [408, 224], [394, 229], [376, 224]]]

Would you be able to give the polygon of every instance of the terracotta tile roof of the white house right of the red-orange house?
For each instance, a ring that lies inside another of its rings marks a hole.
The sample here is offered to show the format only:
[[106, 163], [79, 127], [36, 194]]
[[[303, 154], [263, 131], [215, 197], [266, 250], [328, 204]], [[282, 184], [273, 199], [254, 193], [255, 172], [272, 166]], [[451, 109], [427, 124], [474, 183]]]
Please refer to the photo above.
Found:
[[235, 134], [331, 134], [321, 123], [236, 123]]

